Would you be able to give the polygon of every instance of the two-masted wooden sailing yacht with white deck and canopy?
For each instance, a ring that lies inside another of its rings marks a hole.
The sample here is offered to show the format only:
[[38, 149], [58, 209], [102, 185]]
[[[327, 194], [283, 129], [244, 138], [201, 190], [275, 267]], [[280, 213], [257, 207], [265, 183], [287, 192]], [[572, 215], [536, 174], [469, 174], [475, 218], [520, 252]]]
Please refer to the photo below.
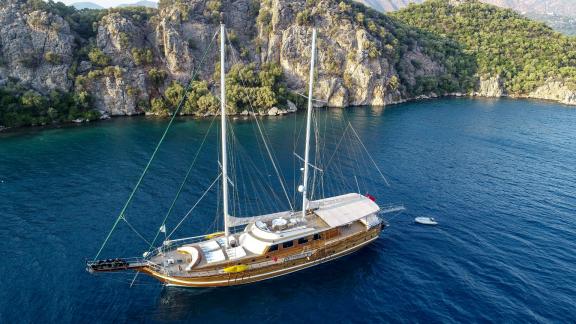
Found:
[[308, 200], [310, 128], [316, 30], [312, 33], [306, 142], [303, 165], [302, 208], [255, 217], [229, 214], [226, 144], [225, 27], [220, 26], [221, 169], [224, 231], [207, 236], [166, 240], [142, 258], [117, 258], [87, 262], [87, 270], [132, 270], [167, 285], [220, 287], [248, 284], [332, 261], [358, 251], [378, 239], [385, 227], [381, 209], [371, 196], [359, 193]]

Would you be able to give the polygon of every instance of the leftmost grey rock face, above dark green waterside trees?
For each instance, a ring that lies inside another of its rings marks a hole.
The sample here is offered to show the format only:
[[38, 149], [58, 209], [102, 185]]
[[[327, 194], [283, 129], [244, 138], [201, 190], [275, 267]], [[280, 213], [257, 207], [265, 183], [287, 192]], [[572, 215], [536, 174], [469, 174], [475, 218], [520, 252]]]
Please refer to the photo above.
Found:
[[0, 4], [0, 79], [12, 77], [47, 93], [68, 91], [74, 36], [62, 17], [23, 12], [17, 1]]

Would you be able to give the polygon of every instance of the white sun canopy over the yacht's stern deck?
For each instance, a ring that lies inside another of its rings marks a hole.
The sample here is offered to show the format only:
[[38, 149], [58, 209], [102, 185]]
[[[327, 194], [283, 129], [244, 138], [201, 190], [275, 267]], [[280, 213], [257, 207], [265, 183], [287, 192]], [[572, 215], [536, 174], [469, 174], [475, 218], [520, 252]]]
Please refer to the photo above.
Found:
[[356, 193], [316, 200], [310, 207], [317, 208], [316, 215], [330, 227], [349, 224], [380, 211], [375, 202]]

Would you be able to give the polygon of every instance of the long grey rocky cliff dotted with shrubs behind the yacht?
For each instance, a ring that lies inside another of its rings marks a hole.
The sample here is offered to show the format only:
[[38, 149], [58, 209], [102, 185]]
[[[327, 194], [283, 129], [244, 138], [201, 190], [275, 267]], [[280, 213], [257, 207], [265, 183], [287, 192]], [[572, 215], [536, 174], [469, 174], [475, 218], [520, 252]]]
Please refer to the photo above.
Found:
[[[284, 86], [275, 90], [305, 92], [311, 30], [318, 28], [315, 95], [329, 106], [455, 92], [506, 94], [495, 76], [462, 77], [460, 70], [472, 70], [473, 59], [458, 44], [347, 1], [165, 0], [158, 10], [102, 11], [92, 18], [91, 32], [78, 30], [77, 17], [30, 3], [0, 4], [0, 85], [11, 80], [40, 94], [84, 93], [111, 115], [156, 113], [155, 103], [171, 101], [173, 81], [183, 85], [193, 71], [216, 93], [210, 80], [218, 73], [213, 41], [220, 12], [230, 65], [280, 66]], [[575, 92], [561, 81], [526, 96], [575, 104]]]

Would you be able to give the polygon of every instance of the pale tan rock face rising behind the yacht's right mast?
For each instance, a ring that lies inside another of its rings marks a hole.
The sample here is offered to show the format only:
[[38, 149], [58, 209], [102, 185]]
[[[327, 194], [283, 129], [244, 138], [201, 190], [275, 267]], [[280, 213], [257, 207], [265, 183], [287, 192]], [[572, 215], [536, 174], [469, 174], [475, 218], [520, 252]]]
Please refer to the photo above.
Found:
[[[284, 68], [289, 86], [303, 91], [307, 84], [310, 52], [310, 24], [295, 23], [299, 12], [310, 10], [306, 1], [274, 0], [264, 6], [271, 14], [268, 26], [258, 25], [262, 39], [263, 62], [279, 62]], [[384, 47], [380, 41], [352, 19], [340, 15], [320, 14], [339, 12], [336, 1], [320, 1], [311, 9], [318, 28], [318, 77], [315, 97], [328, 106], [386, 105], [402, 99], [403, 94], [391, 86], [398, 78], [394, 64], [388, 57], [371, 56], [374, 46]], [[269, 32], [267, 32], [269, 30]], [[418, 74], [433, 76], [442, 68], [425, 57], [418, 47], [408, 51], [400, 63], [414, 69], [411, 61], [420, 58], [427, 68]], [[411, 80], [414, 82], [414, 78]]]

